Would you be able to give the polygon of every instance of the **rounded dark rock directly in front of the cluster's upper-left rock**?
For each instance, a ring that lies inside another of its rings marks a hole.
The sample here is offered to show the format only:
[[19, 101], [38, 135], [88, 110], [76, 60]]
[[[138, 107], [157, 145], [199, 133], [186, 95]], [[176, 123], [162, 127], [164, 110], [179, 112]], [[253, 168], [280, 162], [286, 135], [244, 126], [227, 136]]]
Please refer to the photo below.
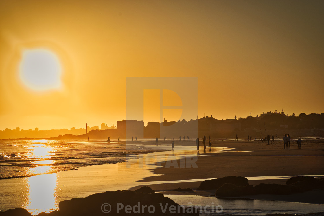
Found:
[[254, 193], [253, 185], [239, 187], [233, 184], [224, 184], [216, 190], [217, 197], [237, 197], [243, 195], [251, 195]]

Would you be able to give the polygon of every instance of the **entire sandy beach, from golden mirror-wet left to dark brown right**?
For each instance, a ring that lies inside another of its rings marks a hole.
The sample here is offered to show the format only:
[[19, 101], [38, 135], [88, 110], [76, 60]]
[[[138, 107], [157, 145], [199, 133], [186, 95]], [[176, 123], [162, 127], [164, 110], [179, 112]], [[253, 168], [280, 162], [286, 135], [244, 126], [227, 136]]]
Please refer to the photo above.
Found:
[[[291, 176], [324, 176], [322, 139], [304, 140], [301, 149], [292, 140], [290, 149], [287, 150], [283, 149], [281, 140], [275, 140], [270, 145], [247, 140], [211, 142], [211, 149], [207, 147], [204, 150], [201, 144], [197, 152], [194, 140], [175, 141], [174, 151], [171, 150], [170, 140], [165, 143], [162, 141], [158, 146], [155, 145], [155, 140], [137, 141], [136, 145], [153, 151], [170, 151], [125, 156], [126, 162], [115, 164], [86, 166], [27, 178], [1, 179], [1, 197], [7, 197], [6, 200], [1, 199], [1, 210], [21, 207], [34, 214], [50, 212], [58, 210], [58, 203], [63, 200], [105, 191], [134, 190], [142, 186], [149, 186], [156, 192], [177, 200], [184, 196], [184, 202], [192, 199], [192, 195], [195, 199], [200, 197], [200, 200], [206, 201], [207, 198], [211, 199], [209, 196], [214, 195], [215, 190], [195, 190], [206, 179], [242, 176], [248, 178], [250, 185], [257, 185], [285, 184]], [[179, 187], [194, 191], [173, 191]], [[324, 205], [320, 205], [324, 204], [323, 198], [319, 196], [322, 193], [323, 191], [309, 191], [295, 195], [251, 195], [241, 198], [319, 203], [309, 208], [324, 211]], [[220, 202], [218, 198], [214, 199]], [[268, 213], [271, 212], [269, 210]]]

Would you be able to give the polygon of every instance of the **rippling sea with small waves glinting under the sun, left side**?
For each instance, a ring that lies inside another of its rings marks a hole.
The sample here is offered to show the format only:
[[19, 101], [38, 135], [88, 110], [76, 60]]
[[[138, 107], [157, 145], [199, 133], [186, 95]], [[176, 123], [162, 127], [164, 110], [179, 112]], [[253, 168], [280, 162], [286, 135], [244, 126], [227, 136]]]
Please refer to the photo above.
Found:
[[98, 164], [126, 161], [155, 152], [145, 146], [106, 141], [0, 141], [0, 179], [29, 177]]

